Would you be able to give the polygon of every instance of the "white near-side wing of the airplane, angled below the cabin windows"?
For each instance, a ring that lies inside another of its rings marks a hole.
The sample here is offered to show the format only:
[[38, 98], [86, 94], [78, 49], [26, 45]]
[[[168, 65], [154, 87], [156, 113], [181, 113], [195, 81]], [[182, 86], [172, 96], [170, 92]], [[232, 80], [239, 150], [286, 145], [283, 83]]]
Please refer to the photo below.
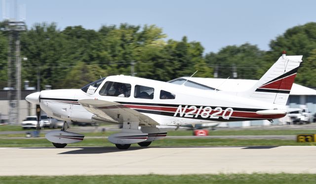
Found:
[[80, 99], [79, 104], [89, 112], [95, 114], [92, 118], [113, 123], [123, 121], [139, 122], [139, 125], [159, 125], [157, 121], [136, 110], [130, 109], [117, 102], [99, 99]]

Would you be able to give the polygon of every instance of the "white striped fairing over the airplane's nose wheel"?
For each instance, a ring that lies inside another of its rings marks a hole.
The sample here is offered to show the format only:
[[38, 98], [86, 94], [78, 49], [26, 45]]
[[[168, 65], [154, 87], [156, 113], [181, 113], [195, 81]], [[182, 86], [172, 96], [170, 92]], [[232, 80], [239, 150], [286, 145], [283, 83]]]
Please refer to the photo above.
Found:
[[83, 141], [84, 135], [63, 130], [50, 131], [45, 138], [52, 143], [72, 144]]

